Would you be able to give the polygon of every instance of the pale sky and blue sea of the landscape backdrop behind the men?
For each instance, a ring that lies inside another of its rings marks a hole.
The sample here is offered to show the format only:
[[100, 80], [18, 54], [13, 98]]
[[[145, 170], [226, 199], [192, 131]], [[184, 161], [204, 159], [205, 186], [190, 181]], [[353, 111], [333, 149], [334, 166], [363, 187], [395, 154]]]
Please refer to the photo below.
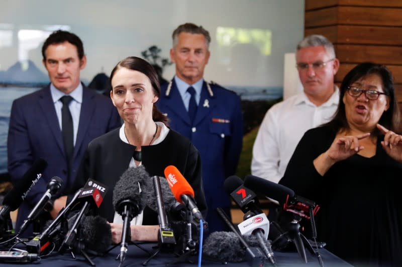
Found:
[[[15, 98], [48, 84], [43, 41], [54, 30], [77, 34], [88, 58], [88, 85], [110, 74], [127, 56], [156, 45], [168, 58], [171, 33], [193, 22], [212, 37], [205, 78], [236, 91], [242, 100], [282, 96], [284, 54], [303, 38], [300, 0], [2, 0], [0, 2], [0, 173], [7, 172], [7, 132]], [[174, 65], [164, 69], [170, 80]]]

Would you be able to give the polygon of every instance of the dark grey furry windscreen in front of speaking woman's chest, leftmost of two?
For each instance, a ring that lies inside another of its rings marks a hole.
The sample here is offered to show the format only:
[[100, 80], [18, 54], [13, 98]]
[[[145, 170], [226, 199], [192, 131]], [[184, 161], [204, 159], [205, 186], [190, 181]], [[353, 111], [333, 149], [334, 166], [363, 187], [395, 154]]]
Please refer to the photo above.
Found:
[[[117, 181], [115, 188], [113, 189], [113, 205], [116, 211], [120, 209], [120, 203], [123, 200], [130, 200], [132, 203], [138, 205], [140, 213], [145, 206], [142, 193], [140, 193], [140, 186], [145, 187], [149, 182], [149, 174], [145, 170], [143, 165], [136, 168], [128, 168]], [[133, 214], [137, 216], [138, 214]]]

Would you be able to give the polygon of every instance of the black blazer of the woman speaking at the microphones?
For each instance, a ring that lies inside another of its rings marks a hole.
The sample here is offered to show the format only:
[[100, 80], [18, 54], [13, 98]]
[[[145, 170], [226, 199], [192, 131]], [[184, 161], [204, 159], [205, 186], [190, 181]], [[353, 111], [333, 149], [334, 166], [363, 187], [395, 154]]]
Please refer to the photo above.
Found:
[[[104, 134], [89, 143], [77, 172], [73, 194], [83, 187], [88, 177], [108, 186], [108, 192], [99, 207], [99, 215], [112, 222], [115, 209], [112, 203], [113, 189], [125, 170], [128, 169], [135, 146], [120, 139], [120, 129]], [[205, 216], [207, 204], [202, 181], [200, 156], [190, 141], [170, 129], [165, 140], [151, 146], [142, 146], [142, 165], [150, 176], [164, 177], [168, 165], [175, 166], [194, 189], [195, 201]], [[156, 212], [144, 210], [144, 225], [158, 224]]]

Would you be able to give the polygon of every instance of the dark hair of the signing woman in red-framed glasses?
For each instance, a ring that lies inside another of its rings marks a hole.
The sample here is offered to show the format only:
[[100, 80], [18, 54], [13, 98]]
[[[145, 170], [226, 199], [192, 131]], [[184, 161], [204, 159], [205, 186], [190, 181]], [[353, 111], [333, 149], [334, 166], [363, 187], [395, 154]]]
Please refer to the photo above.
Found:
[[[370, 74], [377, 74], [380, 76], [384, 93], [389, 97], [389, 108], [382, 113], [378, 123], [395, 133], [401, 132], [399, 119], [400, 113], [395, 97], [392, 74], [384, 65], [371, 62], [361, 63], [354, 67], [348, 74], [346, 74], [340, 88], [338, 109], [334, 115], [334, 118], [324, 125], [332, 127], [335, 131], [338, 131], [339, 129], [349, 129], [343, 97], [351, 84]], [[377, 128], [375, 128], [372, 132], [372, 135], [374, 136], [378, 136], [380, 134], [381, 133]]]

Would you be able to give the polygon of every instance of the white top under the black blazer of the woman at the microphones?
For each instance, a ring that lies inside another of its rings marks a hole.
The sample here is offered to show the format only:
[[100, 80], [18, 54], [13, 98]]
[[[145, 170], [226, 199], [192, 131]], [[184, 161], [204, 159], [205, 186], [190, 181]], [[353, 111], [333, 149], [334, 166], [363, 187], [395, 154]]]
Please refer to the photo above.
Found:
[[[169, 133], [169, 128], [167, 128], [166, 125], [163, 122], [155, 122], [155, 123], [158, 125], [158, 127], [161, 129], [161, 131], [160, 131], [160, 134], [159, 134], [158, 138], [156, 138], [154, 140], [154, 142], [151, 144], [151, 146], [152, 145], [157, 145], [160, 142], [162, 142], [163, 140], [165, 140], [167, 134]], [[126, 134], [124, 133], [124, 128], [125, 128], [125, 125], [123, 123], [122, 127], [120, 127], [119, 136], [120, 136], [120, 139], [123, 142], [129, 144], [129, 141], [127, 140]], [[140, 162], [140, 164], [138, 166], [140, 166], [140, 165], [142, 165], [142, 162]], [[130, 160], [130, 163], [129, 163], [129, 168], [136, 168], [136, 167], [137, 167], [137, 165], [135, 165], [134, 158], [131, 157], [131, 160]], [[140, 187], [140, 192], [141, 192], [141, 187]], [[131, 225], [142, 225], [143, 218], [144, 218], [144, 212], [141, 211], [140, 214], [138, 214], [136, 217], [134, 217], [131, 220]], [[119, 213], [117, 213], [116, 211], [115, 211], [115, 217], [113, 218], [113, 222], [123, 224], [122, 216]]]

